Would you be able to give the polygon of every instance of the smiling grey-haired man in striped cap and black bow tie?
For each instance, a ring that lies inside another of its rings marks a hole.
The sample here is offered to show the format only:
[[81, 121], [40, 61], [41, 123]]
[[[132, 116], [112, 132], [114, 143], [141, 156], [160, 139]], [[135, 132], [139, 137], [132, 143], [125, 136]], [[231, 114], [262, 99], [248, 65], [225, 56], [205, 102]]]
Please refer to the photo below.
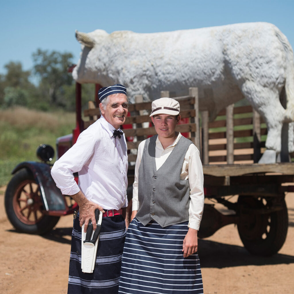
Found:
[[[120, 126], [128, 114], [126, 88], [120, 84], [99, 90], [101, 117], [83, 131], [77, 142], [54, 163], [56, 186], [78, 203], [69, 263], [68, 293], [118, 293], [126, 235], [122, 212], [126, 196], [128, 156]], [[78, 172], [78, 185], [73, 173]], [[81, 270], [81, 227], [96, 229], [95, 210], [103, 212], [93, 273]]]

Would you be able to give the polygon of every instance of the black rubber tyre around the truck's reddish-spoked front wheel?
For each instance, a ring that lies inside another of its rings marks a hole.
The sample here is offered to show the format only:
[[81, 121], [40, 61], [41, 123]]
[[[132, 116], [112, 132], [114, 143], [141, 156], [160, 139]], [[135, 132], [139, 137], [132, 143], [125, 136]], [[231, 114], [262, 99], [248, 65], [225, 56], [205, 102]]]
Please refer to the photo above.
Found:
[[[29, 225], [22, 222], [18, 217], [13, 207], [13, 198], [24, 181], [31, 180], [36, 183], [32, 172], [26, 168], [18, 171], [7, 185], [5, 192], [5, 210], [7, 217], [14, 228], [21, 233], [43, 235], [50, 232], [59, 220], [59, 216], [48, 216], [43, 213], [43, 216], [35, 224]], [[41, 202], [41, 199], [40, 199]]]

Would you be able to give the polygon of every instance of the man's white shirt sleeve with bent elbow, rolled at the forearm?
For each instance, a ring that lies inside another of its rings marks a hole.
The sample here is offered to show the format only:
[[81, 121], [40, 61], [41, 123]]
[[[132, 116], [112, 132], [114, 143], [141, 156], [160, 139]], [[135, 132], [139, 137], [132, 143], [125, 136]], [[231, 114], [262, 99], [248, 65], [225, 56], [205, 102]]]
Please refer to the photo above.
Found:
[[82, 132], [76, 143], [53, 165], [51, 176], [64, 195], [74, 195], [80, 191], [73, 173], [78, 172], [93, 156], [95, 140], [91, 133]]

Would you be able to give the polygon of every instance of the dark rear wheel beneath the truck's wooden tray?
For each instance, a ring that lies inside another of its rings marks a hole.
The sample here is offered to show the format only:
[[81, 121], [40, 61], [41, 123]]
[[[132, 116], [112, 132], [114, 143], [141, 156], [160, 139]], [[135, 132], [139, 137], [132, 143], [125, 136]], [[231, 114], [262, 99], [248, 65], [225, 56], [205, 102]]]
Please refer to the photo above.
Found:
[[[244, 247], [252, 254], [269, 256], [283, 246], [288, 230], [288, 212], [284, 199], [239, 196], [238, 232]], [[273, 209], [273, 207], [275, 209]]]

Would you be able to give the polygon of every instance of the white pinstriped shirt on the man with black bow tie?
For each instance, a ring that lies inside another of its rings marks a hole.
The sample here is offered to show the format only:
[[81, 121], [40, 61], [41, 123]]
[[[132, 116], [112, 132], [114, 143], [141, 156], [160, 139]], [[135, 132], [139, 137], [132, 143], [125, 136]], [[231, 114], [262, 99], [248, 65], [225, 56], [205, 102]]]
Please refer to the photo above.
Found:
[[[126, 138], [124, 134], [114, 138], [114, 130], [101, 116], [54, 163], [51, 175], [62, 194], [74, 195], [81, 190], [88, 200], [108, 210], [128, 206]], [[78, 185], [74, 172], [78, 172]]]

